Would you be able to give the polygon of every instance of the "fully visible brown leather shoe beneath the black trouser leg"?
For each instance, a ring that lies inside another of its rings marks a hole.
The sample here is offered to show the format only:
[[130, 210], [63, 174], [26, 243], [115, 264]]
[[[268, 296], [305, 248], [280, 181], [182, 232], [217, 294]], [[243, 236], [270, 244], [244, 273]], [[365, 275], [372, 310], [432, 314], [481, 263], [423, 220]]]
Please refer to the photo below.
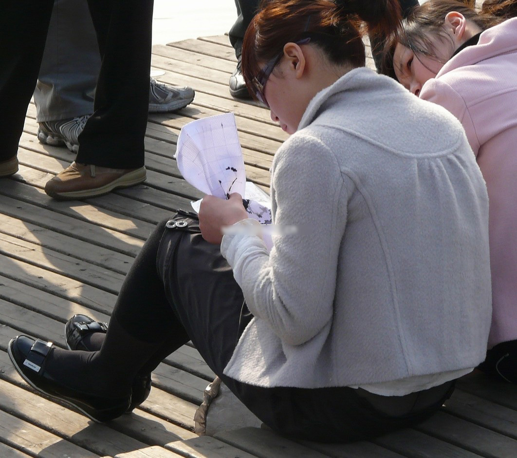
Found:
[[45, 193], [57, 200], [83, 199], [107, 194], [145, 181], [145, 167], [110, 169], [72, 162], [45, 185]]

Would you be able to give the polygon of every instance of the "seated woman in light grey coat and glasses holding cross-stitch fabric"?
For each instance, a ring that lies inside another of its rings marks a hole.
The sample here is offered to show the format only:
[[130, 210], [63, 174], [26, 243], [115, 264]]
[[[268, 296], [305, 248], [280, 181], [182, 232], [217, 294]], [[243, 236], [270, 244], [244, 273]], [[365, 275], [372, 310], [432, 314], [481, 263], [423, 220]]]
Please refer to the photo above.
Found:
[[271, 171], [271, 251], [239, 195], [205, 197], [199, 225], [180, 212], [150, 236], [107, 334], [84, 336], [99, 351], [11, 341], [25, 380], [109, 420], [191, 339], [287, 436], [368, 438], [442, 405], [485, 356], [488, 196], [454, 116], [364, 68], [357, 15], [398, 20], [394, 0], [371, 3], [273, 0], [248, 28], [247, 84], [293, 134]]

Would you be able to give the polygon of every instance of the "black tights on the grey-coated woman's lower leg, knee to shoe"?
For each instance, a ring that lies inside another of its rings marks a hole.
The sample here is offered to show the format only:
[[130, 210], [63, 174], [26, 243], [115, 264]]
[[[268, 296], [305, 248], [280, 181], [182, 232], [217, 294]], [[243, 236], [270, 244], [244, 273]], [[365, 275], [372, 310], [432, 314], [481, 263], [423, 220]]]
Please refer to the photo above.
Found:
[[189, 341], [156, 269], [163, 228], [150, 235], [129, 270], [101, 349], [54, 348], [46, 370], [64, 385], [101, 397], [128, 396], [137, 374], [150, 373]]

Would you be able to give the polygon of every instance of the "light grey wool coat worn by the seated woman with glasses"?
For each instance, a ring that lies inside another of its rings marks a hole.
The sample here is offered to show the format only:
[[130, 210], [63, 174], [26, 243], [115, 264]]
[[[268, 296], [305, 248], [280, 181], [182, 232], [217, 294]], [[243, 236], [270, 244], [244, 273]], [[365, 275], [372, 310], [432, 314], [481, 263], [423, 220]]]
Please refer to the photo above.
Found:
[[273, 223], [296, 234], [274, 236], [270, 253], [252, 234], [221, 244], [254, 316], [227, 376], [339, 387], [483, 361], [488, 197], [447, 110], [354, 69], [276, 153], [271, 198]]

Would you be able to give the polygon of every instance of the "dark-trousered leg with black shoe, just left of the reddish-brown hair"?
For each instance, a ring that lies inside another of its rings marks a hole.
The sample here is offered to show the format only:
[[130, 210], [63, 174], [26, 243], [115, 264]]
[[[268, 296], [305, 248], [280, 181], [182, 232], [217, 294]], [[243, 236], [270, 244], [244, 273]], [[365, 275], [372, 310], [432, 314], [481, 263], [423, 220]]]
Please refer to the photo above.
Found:
[[235, 0], [235, 6], [237, 7], [237, 20], [230, 29], [230, 43], [235, 49], [235, 56], [237, 57], [237, 67], [230, 77], [228, 85], [230, 87], [230, 94], [237, 98], [250, 98], [248, 88], [242, 77], [241, 65], [241, 53], [242, 53], [242, 40], [244, 40], [244, 34], [248, 28], [249, 23], [255, 16], [258, 10], [258, 4], [260, 0]]

